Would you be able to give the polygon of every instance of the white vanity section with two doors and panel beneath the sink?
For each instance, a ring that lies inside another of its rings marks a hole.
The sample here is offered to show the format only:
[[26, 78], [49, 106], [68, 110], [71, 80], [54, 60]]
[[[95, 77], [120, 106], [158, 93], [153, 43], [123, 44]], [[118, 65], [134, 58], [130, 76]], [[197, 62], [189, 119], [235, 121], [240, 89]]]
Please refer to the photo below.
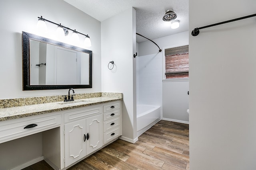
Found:
[[[102, 147], [102, 106], [84, 107], [65, 113], [64, 117], [68, 122], [64, 125], [67, 167]], [[74, 119], [78, 120], [70, 122]]]

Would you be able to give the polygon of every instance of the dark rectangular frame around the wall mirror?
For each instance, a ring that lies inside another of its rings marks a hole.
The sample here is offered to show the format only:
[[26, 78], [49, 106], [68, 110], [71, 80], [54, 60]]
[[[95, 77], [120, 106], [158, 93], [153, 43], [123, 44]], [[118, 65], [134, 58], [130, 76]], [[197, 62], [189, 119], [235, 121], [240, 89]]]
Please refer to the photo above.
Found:
[[[89, 84], [30, 85], [30, 39], [89, 54]], [[22, 31], [23, 90], [92, 88], [92, 51]]]

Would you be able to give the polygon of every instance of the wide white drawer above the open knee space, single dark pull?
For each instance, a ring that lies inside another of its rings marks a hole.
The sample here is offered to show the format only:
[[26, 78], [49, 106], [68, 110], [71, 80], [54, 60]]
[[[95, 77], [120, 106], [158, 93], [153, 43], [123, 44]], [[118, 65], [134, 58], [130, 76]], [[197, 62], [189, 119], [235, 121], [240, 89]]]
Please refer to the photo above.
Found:
[[[50, 127], [58, 127], [58, 125], [61, 123], [61, 115], [52, 115], [46, 117], [43, 115], [35, 115], [26, 117], [24, 119], [10, 120], [10, 122], [6, 125], [0, 124], [0, 143], [8, 141], [8, 139], [12, 140], [18, 137], [24, 137], [42, 132], [51, 129]], [[24, 129], [24, 127], [28, 125], [32, 125], [32, 127]]]

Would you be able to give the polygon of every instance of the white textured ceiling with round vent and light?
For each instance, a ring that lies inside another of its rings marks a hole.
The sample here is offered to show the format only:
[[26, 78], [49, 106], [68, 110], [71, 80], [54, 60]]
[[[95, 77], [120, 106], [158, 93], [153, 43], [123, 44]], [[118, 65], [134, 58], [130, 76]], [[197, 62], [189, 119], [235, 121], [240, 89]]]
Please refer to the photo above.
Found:
[[[104, 21], [131, 7], [136, 10], [136, 32], [149, 39], [188, 31], [188, 0], [64, 0], [96, 20]], [[170, 28], [170, 21], [162, 20], [167, 10], [173, 9], [180, 27]], [[136, 35], [138, 43], [147, 39]]]

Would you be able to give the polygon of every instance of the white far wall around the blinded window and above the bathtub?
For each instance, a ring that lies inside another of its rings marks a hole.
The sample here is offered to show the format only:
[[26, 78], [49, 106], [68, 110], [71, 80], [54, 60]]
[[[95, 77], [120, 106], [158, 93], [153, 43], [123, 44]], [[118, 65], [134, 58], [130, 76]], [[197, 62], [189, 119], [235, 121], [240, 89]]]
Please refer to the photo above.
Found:
[[[164, 55], [164, 49], [188, 45], [188, 31], [161, 37], [153, 41], [163, 51], [157, 53], [158, 47], [151, 41], [139, 43], [139, 54], [140, 56], [144, 55], [142, 58], [139, 57], [139, 63], [148, 62], [152, 64], [152, 59], [154, 59], [154, 63], [157, 64], [155, 64], [153, 68], [156, 69], [154, 72], [158, 73], [157, 80], [161, 83], [161, 91], [159, 92], [159, 85], [155, 82], [156, 78], [150, 79], [152, 72], [149, 72], [146, 68], [142, 70], [142, 66], [138, 67], [140, 68], [140, 76], [138, 78], [139, 92], [137, 92], [137, 95], [139, 95], [139, 103], [152, 103], [154, 100], [157, 100], [155, 103], [161, 102], [160, 106], [162, 106], [164, 120], [188, 123], [188, 114], [186, 112], [188, 109], [188, 81], [162, 82], [162, 55]], [[150, 56], [155, 57], [150, 58]], [[144, 70], [146, 70], [146, 72]], [[158, 98], [159, 95], [160, 100]]]

